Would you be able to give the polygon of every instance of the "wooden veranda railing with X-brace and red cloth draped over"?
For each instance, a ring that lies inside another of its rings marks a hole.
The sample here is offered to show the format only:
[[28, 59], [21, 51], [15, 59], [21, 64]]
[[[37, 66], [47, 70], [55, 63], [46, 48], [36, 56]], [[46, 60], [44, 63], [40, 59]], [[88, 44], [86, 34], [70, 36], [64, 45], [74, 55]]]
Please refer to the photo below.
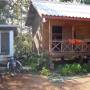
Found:
[[53, 40], [51, 52], [87, 52], [88, 40]]

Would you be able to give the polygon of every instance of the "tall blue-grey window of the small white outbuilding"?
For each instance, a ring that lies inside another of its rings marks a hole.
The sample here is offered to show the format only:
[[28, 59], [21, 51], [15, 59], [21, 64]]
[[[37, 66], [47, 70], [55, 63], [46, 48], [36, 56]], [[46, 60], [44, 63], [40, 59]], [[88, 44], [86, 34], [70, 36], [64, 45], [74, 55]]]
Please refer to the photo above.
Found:
[[9, 32], [0, 32], [0, 54], [9, 54]]

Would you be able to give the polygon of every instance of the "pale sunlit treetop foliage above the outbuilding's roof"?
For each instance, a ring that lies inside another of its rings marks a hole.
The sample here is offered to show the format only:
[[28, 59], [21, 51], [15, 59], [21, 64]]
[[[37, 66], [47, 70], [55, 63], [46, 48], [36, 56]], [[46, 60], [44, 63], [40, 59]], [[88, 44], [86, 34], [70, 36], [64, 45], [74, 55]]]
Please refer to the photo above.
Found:
[[3, 1], [0, 1], [0, 23], [17, 25], [22, 32], [25, 29], [29, 0], [8, 0], [8, 3]]

